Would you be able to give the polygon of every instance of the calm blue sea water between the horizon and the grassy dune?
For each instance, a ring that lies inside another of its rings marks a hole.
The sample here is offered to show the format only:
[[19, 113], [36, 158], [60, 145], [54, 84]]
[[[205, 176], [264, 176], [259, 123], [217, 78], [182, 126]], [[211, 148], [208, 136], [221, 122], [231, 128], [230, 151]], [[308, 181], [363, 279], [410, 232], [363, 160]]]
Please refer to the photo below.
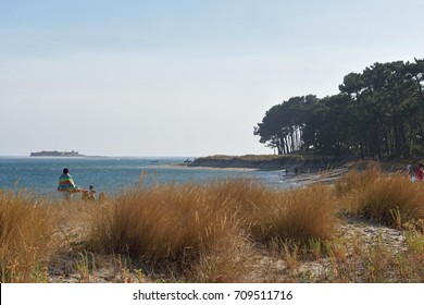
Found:
[[208, 183], [220, 179], [249, 178], [269, 186], [287, 187], [284, 173], [174, 167], [185, 158], [30, 158], [0, 157], [0, 188], [27, 188], [35, 194], [58, 197], [59, 176], [68, 168], [80, 188], [116, 193], [144, 183]]

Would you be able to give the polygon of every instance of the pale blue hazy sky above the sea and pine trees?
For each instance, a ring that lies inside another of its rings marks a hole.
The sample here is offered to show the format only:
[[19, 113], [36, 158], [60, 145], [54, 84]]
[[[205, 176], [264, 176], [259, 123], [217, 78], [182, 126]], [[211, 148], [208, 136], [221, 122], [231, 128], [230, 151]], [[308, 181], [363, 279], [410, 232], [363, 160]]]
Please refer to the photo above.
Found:
[[272, 106], [423, 58], [422, 0], [0, 0], [0, 156], [273, 154]]

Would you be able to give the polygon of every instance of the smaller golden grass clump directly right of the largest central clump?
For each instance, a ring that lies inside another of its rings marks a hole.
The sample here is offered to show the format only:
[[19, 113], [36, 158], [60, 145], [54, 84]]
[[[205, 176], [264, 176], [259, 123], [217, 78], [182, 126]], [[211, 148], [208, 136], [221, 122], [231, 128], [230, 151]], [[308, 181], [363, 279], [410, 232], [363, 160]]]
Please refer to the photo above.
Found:
[[332, 237], [336, 208], [332, 190], [324, 185], [271, 193], [251, 215], [251, 234], [264, 244], [309, 246], [311, 240]]

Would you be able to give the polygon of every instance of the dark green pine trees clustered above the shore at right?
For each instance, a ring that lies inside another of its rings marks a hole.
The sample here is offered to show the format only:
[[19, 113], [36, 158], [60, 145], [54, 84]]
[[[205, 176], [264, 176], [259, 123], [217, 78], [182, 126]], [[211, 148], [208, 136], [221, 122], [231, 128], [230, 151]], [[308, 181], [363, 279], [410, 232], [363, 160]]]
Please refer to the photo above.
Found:
[[424, 152], [424, 59], [375, 63], [349, 73], [339, 93], [291, 97], [254, 126], [279, 155], [411, 157]]

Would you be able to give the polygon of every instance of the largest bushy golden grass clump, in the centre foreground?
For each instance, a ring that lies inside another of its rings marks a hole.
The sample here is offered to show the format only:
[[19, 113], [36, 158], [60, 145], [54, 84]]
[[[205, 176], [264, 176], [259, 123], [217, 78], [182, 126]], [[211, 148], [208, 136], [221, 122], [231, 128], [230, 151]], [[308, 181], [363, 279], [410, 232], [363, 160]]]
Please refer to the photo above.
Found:
[[221, 194], [196, 184], [128, 190], [102, 206], [92, 220], [89, 248], [124, 253], [151, 266], [188, 271], [216, 245], [237, 235]]

